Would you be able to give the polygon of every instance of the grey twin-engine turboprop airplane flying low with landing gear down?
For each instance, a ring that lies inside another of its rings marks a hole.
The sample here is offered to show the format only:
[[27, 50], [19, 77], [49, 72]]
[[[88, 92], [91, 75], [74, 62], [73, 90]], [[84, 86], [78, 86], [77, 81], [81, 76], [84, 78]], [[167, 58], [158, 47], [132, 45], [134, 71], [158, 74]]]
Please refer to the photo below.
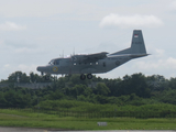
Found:
[[37, 70], [46, 74], [46, 79], [50, 79], [51, 74], [80, 74], [80, 79], [91, 79], [91, 74], [101, 74], [112, 70], [113, 68], [138, 57], [147, 56], [145, 44], [141, 30], [134, 30], [132, 35], [131, 47], [109, 54], [107, 52], [73, 55], [67, 58], [52, 59], [46, 66], [38, 66]]

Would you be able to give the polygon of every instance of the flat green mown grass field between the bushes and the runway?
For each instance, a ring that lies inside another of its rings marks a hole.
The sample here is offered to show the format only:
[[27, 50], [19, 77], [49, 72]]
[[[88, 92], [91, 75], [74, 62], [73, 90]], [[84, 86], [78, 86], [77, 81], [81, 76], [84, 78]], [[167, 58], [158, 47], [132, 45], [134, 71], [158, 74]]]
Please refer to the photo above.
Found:
[[[97, 122], [107, 122], [108, 125], [98, 127]], [[0, 109], [0, 125], [64, 130], [176, 130], [176, 119], [59, 118], [56, 114]]]

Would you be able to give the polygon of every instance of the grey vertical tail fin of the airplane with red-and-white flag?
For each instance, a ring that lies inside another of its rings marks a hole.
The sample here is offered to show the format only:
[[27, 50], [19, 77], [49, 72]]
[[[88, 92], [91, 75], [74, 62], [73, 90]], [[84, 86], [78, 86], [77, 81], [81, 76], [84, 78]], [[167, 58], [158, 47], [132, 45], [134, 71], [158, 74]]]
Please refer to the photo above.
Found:
[[131, 47], [113, 53], [111, 55], [119, 54], [146, 54], [145, 44], [141, 30], [133, 31]]

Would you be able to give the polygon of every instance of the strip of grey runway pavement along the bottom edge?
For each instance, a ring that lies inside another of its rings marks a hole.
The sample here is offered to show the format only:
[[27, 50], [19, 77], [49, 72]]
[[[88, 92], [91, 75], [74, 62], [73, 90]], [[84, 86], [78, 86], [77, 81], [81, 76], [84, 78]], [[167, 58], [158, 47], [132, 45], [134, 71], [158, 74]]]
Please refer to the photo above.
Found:
[[[0, 132], [77, 132], [65, 130], [30, 129], [30, 128], [4, 128], [0, 127]], [[176, 132], [172, 130], [103, 130], [103, 131], [78, 131], [78, 132]]]

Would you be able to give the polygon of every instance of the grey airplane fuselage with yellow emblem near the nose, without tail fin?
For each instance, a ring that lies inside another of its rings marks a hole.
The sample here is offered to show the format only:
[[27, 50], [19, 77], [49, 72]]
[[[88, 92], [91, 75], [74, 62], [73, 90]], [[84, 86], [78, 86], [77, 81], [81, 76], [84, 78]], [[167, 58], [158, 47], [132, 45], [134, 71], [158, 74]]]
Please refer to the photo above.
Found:
[[[143, 55], [145, 56], [145, 55]], [[45, 74], [100, 74], [112, 70], [113, 68], [142, 55], [112, 55], [97, 62], [80, 63], [74, 62], [72, 57], [55, 58], [53, 64], [37, 67], [38, 72]]]

